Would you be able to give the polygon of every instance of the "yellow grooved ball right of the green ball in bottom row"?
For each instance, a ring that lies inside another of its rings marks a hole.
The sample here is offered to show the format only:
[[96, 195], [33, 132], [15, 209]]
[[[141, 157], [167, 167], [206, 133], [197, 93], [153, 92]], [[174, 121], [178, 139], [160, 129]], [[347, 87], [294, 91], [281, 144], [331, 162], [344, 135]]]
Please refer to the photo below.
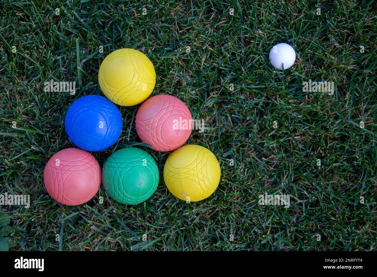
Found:
[[170, 154], [164, 166], [166, 187], [182, 200], [199, 201], [207, 198], [218, 187], [220, 175], [216, 156], [199, 145], [178, 148]]

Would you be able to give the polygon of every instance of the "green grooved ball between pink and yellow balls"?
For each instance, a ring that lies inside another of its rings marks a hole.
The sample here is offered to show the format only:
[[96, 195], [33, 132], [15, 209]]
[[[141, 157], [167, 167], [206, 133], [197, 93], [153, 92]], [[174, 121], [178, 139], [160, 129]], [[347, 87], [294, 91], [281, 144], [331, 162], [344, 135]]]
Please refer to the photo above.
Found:
[[156, 191], [159, 172], [152, 156], [139, 148], [122, 148], [103, 165], [102, 182], [109, 196], [123, 204], [139, 204]]

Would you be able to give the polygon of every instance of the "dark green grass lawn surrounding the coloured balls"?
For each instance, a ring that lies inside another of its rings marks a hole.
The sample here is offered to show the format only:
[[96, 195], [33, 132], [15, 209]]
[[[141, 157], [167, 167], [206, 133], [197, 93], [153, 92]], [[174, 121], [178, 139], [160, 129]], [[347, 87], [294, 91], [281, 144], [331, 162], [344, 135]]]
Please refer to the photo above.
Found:
[[[11, 216], [12, 250], [375, 250], [373, 1], [2, 0], [0, 7], [0, 194], [30, 194], [32, 201], [29, 209], [0, 207]], [[283, 74], [268, 61], [279, 42], [297, 53]], [[152, 95], [174, 95], [205, 119], [205, 132], [193, 131], [187, 143], [219, 159], [221, 182], [207, 199], [186, 204], [169, 193], [162, 178], [169, 153], [140, 146], [139, 105], [120, 107], [120, 139], [93, 155], [102, 167], [123, 147], [149, 152], [161, 175], [149, 200], [118, 204], [102, 185], [78, 207], [47, 194], [46, 162], [74, 146], [64, 130], [69, 105], [84, 95], [103, 96], [101, 61], [124, 47], [154, 64]], [[76, 81], [76, 95], [44, 92], [51, 79]], [[334, 95], [303, 92], [309, 79], [334, 81]], [[290, 208], [258, 205], [265, 192], [290, 194]]]

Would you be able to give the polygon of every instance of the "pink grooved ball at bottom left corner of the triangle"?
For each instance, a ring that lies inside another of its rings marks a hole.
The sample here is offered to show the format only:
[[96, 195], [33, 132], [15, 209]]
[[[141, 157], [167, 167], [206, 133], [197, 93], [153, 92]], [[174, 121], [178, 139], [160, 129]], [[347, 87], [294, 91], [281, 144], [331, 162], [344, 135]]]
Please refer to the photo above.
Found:
[[43, 179], [52, 198], [61, 204], [75, 206], [95, 196], [101, 185], [101, 168], [90, 153], [66, 148], [49, 159]]

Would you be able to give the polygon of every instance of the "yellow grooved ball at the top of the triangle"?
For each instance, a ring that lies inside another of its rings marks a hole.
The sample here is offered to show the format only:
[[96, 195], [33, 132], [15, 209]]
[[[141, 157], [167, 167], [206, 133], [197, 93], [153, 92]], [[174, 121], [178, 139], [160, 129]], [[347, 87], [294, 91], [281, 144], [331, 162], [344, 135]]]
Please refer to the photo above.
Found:
[[135, 49], [123, 48], [103, 60], [98, 82], [104, 95], [113, 103], [133, 106], [152, 93], [156, 72], [146, 55]]

